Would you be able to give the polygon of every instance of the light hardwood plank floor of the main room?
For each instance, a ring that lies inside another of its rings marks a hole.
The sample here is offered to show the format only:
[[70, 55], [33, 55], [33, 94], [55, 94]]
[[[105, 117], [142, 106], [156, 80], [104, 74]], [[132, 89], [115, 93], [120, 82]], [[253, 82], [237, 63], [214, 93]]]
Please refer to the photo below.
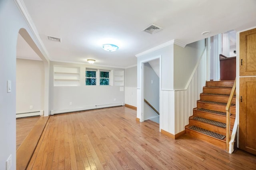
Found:
[[126, 107], [50, 116], [28, 169], [256, 169], [256, 156], [172, 139]]

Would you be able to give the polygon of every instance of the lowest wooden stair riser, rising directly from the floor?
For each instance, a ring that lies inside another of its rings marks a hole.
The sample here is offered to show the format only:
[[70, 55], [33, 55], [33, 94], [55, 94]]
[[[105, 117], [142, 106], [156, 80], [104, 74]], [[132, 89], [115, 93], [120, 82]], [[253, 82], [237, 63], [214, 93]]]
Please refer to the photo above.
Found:
[[200, 132], [197, 132], [197, 131], [194, 131], [194, 130], [191, 130], [189, 128], [185, 128], [185, 132], [186, 134], [192, 136], [192, 137], [196, 137], [196, 138], [199, 138], [201, 140], [204, 140], [208, 143], [211, 143], [211, 144], [214, 144], [215, 146], [218, 146], [219, 148], [222, 148], [222, 149], [226, 149], [226, 141], [225, 140], [219, 140], [217, 138], [214, 138], [212, 136], [208, 136], [206, 134], [202, 134]]

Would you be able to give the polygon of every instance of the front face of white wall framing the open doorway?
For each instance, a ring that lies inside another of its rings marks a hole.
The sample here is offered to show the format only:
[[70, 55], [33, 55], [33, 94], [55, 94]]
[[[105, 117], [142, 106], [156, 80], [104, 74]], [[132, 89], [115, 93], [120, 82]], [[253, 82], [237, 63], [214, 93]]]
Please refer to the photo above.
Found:
[[[142, 100], [142, 70], [140, 67], [142, 63], [148, 62], [153, 59], [160, 59], [160, 129], [164, 129], [168, 132], [174, 133], [174, 124], [169, 124], [174, 120], [174, 107], [170, 107], [170, 103], [163, 104], [164, 96], [169, 96], [167, 93], [170, 90], [173, 90], [173, 69], [174, 69], [174, 44], [170, 44], [166, 47], [152, 51], [150, 53], [144, 54], [137, 59], [138, 66], [138, 80], [137, 80], [137, 117], [142, 121], [142, 105], [144, 101]], [[161, 80], [162, 77], [162, 80]], [[168, 99], [172, 99], [172, 96], [169, 96]], [[163, 122], [164, 121], [164, 122]], [[173, 127], [172, 127], [173, 126]], [[173, 131], [172, 131], [173, 129]]]

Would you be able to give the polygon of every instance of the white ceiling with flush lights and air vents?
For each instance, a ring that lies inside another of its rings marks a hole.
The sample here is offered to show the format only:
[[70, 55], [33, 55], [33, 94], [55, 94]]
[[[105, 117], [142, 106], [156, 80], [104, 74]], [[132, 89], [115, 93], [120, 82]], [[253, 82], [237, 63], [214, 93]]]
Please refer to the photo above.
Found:
[[[256, 26], [256, 0], [24, 0], [52, 61], [129, 67], [135, 55], [176, 39], [192, 43]], [[154, 23], [155, 34], [142, 32]], [[210, 35], [201, 35], [204, 31]], [[51, 42], [47, 36], [62, 39]], [[19, 42], [18, 42], [19, 43]], [[118, 51], [104, 51], [114, 43]], [[29, 55], [29, 54], [28, 54]]]

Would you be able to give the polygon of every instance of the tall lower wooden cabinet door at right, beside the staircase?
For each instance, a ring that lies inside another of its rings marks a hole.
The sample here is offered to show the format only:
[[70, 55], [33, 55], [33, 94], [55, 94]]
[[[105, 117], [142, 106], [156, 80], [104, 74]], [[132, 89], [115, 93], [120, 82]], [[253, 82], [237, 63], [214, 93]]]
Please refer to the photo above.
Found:
[[239, 92], [239, 148], [256, 154], [256, 77], [241, 77]]

